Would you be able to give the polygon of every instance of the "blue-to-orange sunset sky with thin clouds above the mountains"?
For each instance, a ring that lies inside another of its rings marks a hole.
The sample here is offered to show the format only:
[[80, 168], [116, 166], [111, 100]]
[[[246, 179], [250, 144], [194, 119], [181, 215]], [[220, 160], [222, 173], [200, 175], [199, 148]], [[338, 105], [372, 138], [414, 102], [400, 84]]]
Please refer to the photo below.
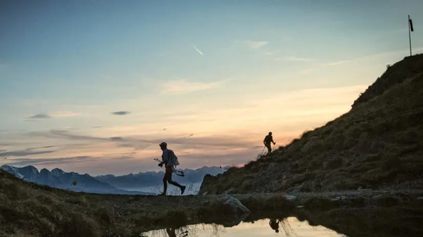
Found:
[[0, 0], [3, 164], [240, 165], [346, 113], [423, 52], [423, 2]]

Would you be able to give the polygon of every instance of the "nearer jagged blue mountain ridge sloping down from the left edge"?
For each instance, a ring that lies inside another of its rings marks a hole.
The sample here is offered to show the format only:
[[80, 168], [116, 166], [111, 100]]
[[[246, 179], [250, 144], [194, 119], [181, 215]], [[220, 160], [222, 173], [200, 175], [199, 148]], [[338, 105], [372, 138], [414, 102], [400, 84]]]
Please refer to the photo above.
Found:
[[[12, 167], [10, 165], [2, 165], [0, 169], [3, 169], [16, 177], [34, 182], [41, 185], [48, 185], [51, 187], [70, 189], [72, 191], [80, 191], [86, 193], [100, 193], [100, 194], [141, 194], [141, 195], [152, 195], [152, 193], [126, 191], [114, 187], [113, 185], [105, 182], [101, 182], [89, 174], [80, 175], [75, 172], [64, 172], [60, 169], [53, 169], [49, 171], [42, 169], [40, 171], [32, 165], [26, 167]], [[76, 185], [72, 183], [76, 182]]]

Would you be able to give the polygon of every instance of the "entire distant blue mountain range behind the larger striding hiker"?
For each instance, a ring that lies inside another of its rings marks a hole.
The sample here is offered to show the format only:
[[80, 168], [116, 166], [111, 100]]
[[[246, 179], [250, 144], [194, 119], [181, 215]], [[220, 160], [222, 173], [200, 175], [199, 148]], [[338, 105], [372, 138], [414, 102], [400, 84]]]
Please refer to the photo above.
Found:
[[[162, 185], [162, 178], [164, 175], [164, 172], [145, 172], [121, 176], [109, 174], [93, 177], [89, 174], [81, 175], [75, 172], [65, 172], [58, 168], [51, 171], [47, 169], [38, 171], [37, 168], [32, 165], [20, 168], [2, 165], [0, 169], [29, 182], [61, 189], [69, 189], [75, 192], [98, 194], [155, 195], [151, 192], [128, 191], [124, 189], [137, 189]], [[223, 173], [227, 169], [228, 167], [202, 167], [196, 170], [184, 169], [184, 177], [173, 175], [172, 179], [181, 184], [201, 183], [206, 174], [215, 176]]]

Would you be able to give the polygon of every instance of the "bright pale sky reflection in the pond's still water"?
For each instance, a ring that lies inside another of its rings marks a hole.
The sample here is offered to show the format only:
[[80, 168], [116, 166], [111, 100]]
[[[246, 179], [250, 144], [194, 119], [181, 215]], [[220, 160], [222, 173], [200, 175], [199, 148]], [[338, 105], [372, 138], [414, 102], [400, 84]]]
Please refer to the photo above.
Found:
[[[270, 226], [270, 228], [269, 228]], [[280, 232], [279, 228], [283, 229]], [[276, 232], [276, 233], [275, 233]], [[212, 236], [321, 236], [335, 237], [346, 236], [323, 226], [310, 226], [307, 222], [301, 222], [297, 218], [289, 217], [283, 220], [263, 219], [255, 222], [242, 222], [241, 224], [226, 228], [218, 224], [189, 225], [178, 229], [167, 228], [146, 232], [149, 237], [212, 237]]]

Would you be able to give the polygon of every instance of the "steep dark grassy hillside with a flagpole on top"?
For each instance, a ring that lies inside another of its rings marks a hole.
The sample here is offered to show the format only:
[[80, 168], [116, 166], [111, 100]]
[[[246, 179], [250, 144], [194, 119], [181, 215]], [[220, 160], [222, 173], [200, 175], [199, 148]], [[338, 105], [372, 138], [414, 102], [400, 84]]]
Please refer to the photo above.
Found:
[[423, 55], [387, 68], [325, 126], [242, 168], [206, 175], [200, 194], [423, 188]]

